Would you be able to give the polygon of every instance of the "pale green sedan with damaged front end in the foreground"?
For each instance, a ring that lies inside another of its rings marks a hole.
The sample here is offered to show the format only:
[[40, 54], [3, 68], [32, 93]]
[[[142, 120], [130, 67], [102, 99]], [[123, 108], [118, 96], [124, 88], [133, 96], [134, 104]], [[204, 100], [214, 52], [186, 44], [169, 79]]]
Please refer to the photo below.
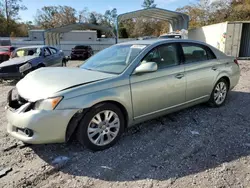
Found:
[[202, 42], [121, 43], [80, 68], [25, 76], [9, 92], [7, 130], [32, 144], [76, 135], [87, 148], [103, 150], [139, 122], [204, 102], [222, 106], [239, 77], [237, 60]]

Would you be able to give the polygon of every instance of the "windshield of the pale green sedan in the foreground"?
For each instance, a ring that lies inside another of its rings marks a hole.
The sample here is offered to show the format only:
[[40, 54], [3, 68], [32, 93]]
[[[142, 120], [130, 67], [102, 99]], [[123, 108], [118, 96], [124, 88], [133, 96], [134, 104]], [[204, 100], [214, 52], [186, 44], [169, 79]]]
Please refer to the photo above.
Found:
[[114, 45], [92, 56], [81, 68], [120, 74], [145, 47], [146, 45]]

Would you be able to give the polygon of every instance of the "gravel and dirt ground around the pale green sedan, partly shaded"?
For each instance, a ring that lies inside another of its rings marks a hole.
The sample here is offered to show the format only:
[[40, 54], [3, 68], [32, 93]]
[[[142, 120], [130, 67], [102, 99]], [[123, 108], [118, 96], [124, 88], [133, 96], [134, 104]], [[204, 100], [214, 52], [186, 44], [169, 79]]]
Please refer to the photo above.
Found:
[[[71, 66], [77, 62], [69, 63]], [[114, 147], [23, 146], [6, 133], [11, 84], [0, 85], [0, 187], [250, 187], [250, 62], [226, 105], [198, 105], [128, 130]], [[12, 146], [12, 147], [11, 147]], [[67, 157], [54, 163], [58, 156]]]

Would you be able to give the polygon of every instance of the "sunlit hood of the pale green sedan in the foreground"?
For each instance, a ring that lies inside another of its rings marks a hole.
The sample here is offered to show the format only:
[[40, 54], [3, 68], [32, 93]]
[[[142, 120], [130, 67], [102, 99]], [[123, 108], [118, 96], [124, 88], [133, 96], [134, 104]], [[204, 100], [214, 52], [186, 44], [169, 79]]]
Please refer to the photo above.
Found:
[[40, 68], [26, 75], [16, 87], [20, 96], [35, 102], [51, 97], [64, 89], [113, 76], [115, 75], [80, 68]]

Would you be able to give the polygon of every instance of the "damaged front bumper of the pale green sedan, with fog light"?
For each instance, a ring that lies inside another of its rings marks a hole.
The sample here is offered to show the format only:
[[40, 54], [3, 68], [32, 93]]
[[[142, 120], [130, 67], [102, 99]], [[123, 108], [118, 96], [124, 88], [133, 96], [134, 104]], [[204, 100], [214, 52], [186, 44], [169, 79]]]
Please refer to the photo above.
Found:
[[18, 109], [7, 105], [7, 132], [25, 143], [62, 143], [66, 139], [67, 126], [77, 111], [78, 109], [34, 110], [30, 102]]

